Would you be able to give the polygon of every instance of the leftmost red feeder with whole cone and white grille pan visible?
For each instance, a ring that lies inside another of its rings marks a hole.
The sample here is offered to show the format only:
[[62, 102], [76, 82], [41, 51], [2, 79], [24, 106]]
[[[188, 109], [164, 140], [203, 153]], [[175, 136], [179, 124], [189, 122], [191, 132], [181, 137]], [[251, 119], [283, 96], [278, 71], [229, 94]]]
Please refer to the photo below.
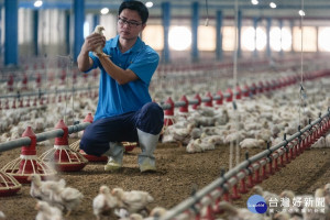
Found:
[[36, 157], [36, 136], [31, 127], [26, 128], [22, 136], [31, 139], [30, 146], [22, 146], [20, 157], [4, 165], [1, 170], [11, 175], [21, 184], [30, 184], [28, 177], [32, 174], [38, 174], [42, 178], [55, 175], [56, 170]]

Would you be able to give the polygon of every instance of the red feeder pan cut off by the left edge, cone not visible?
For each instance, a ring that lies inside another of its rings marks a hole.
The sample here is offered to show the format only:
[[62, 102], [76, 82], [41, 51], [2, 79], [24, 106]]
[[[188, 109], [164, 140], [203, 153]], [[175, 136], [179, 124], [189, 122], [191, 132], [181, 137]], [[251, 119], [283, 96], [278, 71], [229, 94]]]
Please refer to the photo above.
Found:
[[0, 170], [0, 197], [13, 196], [22, 185], [12, 176]]

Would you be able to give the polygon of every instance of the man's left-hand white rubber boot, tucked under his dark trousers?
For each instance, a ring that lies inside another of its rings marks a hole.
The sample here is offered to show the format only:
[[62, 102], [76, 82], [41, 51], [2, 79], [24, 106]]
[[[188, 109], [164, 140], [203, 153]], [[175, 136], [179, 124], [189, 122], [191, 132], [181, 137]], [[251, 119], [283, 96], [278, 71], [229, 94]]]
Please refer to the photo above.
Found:
[[121, 142], [110, 142], [110, 148], [105, 153], [108, 156], [108, 163], [105, 166], [106, 172], [114, 172], [122, 167], [123, 145]]

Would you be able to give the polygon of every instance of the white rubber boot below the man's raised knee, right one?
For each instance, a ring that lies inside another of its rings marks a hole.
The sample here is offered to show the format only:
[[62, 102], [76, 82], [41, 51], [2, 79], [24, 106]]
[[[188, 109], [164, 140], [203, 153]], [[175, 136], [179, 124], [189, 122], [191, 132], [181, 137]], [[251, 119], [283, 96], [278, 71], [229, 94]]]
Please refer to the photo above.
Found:
[[141, 172], [156, 170], [154, 151], [157, 146], [160, 134], [150, 134], [138, 129], [139, 144], [141, 147], [141, 154], [139, 154], [138, 161]]

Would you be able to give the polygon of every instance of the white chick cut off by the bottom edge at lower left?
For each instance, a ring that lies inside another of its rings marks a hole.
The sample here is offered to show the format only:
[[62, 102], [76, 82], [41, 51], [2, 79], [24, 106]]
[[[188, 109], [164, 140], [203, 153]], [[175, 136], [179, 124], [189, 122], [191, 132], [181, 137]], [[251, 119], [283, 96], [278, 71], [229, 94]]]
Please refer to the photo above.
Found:
[[63, 220], [62, 211], [46, 201], [37, 201], [35, 209], [37, 210], [35, 220]]

